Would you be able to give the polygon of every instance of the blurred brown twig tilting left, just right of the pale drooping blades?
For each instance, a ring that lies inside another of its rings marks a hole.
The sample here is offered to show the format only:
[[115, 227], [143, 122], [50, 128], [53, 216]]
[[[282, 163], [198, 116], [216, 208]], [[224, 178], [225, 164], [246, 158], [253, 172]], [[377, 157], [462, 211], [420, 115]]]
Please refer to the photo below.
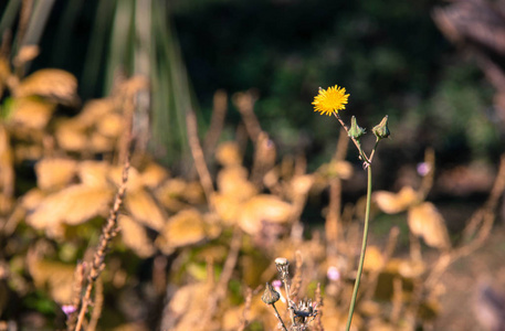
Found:
[[212, 178], [210, 175], [209, 169], [207, 168], [206, 158], [203, 156], [200, 140], [198, 139], [198, 125], [194, 111], [187, 111], [186, 126], [188, 129], [188, 142], [194, 160], [194, 167], [197, 168], [198, 177], [200, 178], [200, 183], [203, 188], [203, 192], [206, 192], [207, 201], [210, 201], [212, 193], [214, 192], [214, 186], [212, 184]]

